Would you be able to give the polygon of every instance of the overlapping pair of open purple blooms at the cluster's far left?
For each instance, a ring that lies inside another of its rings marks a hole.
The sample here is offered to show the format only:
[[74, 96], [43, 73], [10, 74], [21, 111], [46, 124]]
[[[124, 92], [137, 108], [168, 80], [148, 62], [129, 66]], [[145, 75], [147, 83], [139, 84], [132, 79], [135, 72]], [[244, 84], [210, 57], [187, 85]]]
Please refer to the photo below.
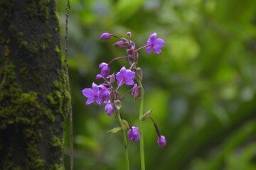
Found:
[[[99, 90], [99, 87], [101, 90]], [[82, 90], [82, 94], [87, 97], [86, 105], [96, 101], [97, 104], [101, 105], [105, 98], [109, 98], [110, 94], [105, 86], [97, 86], [94, 82], [92, 83], [92, 89], [86, 88]]]

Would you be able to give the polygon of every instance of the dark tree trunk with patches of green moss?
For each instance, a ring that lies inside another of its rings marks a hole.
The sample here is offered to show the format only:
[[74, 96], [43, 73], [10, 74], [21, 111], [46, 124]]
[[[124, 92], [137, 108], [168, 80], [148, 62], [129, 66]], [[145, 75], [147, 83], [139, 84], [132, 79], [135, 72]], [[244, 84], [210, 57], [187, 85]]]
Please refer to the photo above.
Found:
[[63, 169], [68, 91], [54, 0], [0, 0], [0, 169]]

